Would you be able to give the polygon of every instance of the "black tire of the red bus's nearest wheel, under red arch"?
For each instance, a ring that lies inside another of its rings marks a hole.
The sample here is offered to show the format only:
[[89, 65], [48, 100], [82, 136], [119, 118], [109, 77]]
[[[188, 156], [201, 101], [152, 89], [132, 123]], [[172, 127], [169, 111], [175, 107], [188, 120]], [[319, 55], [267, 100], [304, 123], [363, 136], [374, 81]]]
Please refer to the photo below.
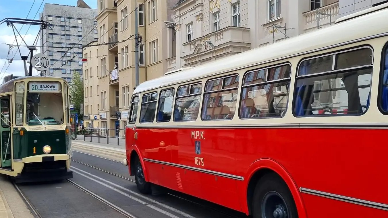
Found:
[[253, 218], [298, 218], [298, 210], [286, 182], [275, 173], [257, 182], [252, 201]]

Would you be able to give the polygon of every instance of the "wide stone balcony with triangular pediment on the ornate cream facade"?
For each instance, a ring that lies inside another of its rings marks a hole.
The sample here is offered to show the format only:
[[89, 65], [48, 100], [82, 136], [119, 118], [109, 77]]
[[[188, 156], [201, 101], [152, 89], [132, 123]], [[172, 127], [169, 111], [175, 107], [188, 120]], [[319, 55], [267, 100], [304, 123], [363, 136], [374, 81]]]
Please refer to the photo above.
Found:
[[[215, 47], [212, 48], [206, 41], [210, 41]], [[182, 67], [186, 67], [205, 58], [222, 57], [249, 50], [251, 46], [249, 28], [229, 26], [182, 45], [184, 46], [182, 57], [184, 65]]]

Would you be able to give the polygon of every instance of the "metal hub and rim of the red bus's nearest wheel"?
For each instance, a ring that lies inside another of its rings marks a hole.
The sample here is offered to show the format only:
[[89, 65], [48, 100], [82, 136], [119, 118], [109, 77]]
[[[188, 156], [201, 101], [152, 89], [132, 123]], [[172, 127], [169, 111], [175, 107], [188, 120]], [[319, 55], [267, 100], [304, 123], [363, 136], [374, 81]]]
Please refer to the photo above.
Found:
[[287, 205], [282, 196], [277, 192], [265, 194], [262, 203], [263, 218], [288, 218]]

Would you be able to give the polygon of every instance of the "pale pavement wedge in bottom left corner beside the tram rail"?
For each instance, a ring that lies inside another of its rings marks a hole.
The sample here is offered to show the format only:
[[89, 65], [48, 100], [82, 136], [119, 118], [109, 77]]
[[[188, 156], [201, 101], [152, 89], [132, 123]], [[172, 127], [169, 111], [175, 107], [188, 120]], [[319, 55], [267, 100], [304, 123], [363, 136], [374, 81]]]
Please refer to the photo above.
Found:
[[0, 175], [0, 218], [34, 218], [5, 175]]

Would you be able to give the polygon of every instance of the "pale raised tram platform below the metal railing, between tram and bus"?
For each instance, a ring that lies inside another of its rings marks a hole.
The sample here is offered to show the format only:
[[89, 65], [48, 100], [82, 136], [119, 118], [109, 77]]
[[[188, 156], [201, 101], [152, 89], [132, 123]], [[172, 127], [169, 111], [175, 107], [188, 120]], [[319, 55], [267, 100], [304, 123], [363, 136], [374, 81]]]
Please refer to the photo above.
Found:
[[[105, 140], [105, 143], [103, 142], [103, 140]], [[71, 147], [74, 151], [80, 151], [83, 153], [93, 154], [95, 156], [100, 156], [103, 158], [108, 158], [111, 160], [122, 162], [126, 158], [125, 139], [119, 139], [119, 140], [122, 140], [122, 141], [119, 141], [119, 145], [117, 145], [117, 139], [115, 144], [111, 144], [110, 139], [109, 139], [109, 144], [107, 144], [106, 139], [100, 138], [100, 143], [99, 143], [98, 138], [92, 138], [92, 142], [90, 142], [90, 137], [85, 137], [85, 141], [83, 141], [83, 136], [82, 136], [77, 140], [72, 140]]]

